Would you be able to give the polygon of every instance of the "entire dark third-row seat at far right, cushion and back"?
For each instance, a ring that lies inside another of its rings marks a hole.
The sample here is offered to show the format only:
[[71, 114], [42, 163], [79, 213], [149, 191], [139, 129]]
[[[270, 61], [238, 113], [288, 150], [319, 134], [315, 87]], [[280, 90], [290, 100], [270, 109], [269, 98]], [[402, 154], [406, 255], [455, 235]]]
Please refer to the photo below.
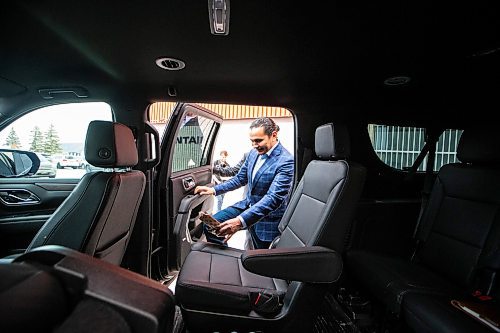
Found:
[[473, 291], [498, 299], [500, 141], [466, 130], [457, 158], [439, 171], [415, 233], [413, 260], [350, 251], [348, 274], [417, 332], [488, 332], [450, 300]]

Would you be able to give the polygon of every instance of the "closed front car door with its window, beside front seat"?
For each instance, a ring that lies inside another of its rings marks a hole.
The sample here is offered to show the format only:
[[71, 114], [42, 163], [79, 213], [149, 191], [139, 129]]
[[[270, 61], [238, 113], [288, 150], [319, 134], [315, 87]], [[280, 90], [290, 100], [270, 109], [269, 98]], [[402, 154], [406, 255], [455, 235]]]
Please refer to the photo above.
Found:
[[24, 251], [85, 174], [84, 168], [57, 168], [55, 157], [64, 153], [77, 159], [88, 123], [113, 118], [106, 103], [68, 103], [19, 113], [2, 123], [0, 145], [35, 153], [42, 168], [0, 177], [0, 257]]

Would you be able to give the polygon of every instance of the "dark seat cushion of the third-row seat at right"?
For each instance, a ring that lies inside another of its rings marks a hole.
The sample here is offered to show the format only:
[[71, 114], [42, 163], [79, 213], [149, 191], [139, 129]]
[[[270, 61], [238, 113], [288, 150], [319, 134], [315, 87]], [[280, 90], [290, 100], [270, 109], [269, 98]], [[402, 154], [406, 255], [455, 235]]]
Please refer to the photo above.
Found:
[[451, 295], [457, 291], [455, 286], [426, 267], [403, 258], [350, 251], [346, 255], [346, 267], [350, 275], [396, 314], [407, 294]]

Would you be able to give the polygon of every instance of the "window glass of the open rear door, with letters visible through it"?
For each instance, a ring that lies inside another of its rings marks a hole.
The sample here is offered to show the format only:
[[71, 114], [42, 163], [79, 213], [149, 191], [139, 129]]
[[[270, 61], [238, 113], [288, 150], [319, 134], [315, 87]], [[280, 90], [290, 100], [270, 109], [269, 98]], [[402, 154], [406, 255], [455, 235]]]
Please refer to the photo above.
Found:
[[172, 159], [172, 172], [183, 171], [209, 163], [209, 143], [217, 123], [188, 112], [177, 133]]

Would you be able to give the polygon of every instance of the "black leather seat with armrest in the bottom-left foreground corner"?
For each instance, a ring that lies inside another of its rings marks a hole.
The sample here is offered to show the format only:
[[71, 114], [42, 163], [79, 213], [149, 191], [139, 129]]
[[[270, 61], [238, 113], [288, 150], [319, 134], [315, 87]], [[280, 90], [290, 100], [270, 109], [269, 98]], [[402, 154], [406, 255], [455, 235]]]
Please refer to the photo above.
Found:
[[0, 264], [0, 332], [171, 332], [174, 298], [159, 282], [61, 246]]

